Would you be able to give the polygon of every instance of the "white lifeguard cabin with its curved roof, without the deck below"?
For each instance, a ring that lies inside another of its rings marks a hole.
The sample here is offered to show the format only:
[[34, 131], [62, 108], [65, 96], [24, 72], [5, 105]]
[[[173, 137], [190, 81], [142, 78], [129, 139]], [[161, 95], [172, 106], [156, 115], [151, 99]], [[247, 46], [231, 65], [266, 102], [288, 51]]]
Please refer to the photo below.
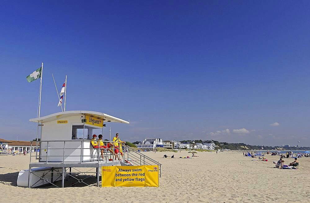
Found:
[[93, 160], [90, 140], [93, 134], [103, 134], [104, 122], [129, 124], [94, 111], [59, 112], [30, 121], [42, 124], [39, 162], [89, 162]]

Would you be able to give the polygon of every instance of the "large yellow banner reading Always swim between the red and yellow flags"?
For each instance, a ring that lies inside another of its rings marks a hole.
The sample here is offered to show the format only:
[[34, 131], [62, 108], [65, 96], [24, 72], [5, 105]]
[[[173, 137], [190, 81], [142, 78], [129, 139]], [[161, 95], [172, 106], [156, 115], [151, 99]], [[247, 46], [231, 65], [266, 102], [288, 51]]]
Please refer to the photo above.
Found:
[[102, 187], [159, 187], [158, 166], [102, 166]]

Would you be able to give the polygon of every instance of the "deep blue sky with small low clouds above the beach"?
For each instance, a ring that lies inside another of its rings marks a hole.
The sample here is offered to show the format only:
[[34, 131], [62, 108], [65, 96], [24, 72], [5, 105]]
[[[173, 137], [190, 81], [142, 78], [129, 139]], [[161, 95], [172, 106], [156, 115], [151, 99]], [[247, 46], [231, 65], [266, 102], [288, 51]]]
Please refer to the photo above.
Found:
[[[41, 116], [99, 111], [127, 141], [310, 146], [309, 1], [2, 1], [0, 137], [32, 140]], [[272, 125], [273, 124], [273, 125]], [[108, 128], [105, 129], [108, 135]], [[297, 141], [300, 141], [298, 143]]]

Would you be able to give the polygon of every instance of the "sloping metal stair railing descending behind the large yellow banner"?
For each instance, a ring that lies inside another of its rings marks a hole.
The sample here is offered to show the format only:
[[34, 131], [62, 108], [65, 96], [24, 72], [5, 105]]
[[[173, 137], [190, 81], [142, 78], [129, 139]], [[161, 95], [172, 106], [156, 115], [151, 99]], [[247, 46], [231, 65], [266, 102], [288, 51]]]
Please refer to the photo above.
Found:
[[161, 177], [161, 165], [162, 165], [161, 163], [144, 155], [143, 153], [139, 152], [133, 147], [125, 145], [124, 150], [125, 150], [124, 157], [127, 156], [127, 161], [132, 165], [136, 166], [158, 165], [158, 173], [159, 177]]

